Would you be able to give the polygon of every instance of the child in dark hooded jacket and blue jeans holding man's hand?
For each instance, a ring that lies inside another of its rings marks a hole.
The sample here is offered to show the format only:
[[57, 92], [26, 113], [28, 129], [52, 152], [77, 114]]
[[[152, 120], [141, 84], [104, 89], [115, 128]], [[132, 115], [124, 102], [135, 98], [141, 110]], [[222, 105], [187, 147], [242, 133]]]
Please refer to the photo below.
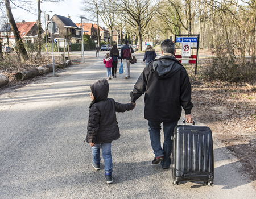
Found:
[[100, 169], [100, 148], [105, 163], [105, 179], [108, 184], [113, 183], [111, 143], [120, 137], [115, 112], [133, 110], [134, 104], [118, 103], [108, 98], [109, 84], [106, 79], [99, 80], [90, 86], [89, 120], [87, 125], [86, 142], [92, 146], [92, 166]]

